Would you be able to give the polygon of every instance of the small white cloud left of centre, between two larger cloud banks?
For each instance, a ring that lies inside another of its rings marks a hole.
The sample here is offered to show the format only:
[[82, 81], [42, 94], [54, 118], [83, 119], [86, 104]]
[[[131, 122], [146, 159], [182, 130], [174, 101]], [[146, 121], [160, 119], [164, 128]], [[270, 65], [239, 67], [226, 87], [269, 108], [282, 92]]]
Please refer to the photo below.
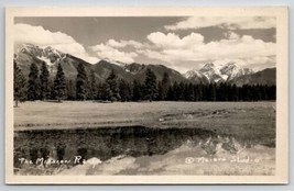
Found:
[[96, 46], [91, 46], [91, 49], [97, 54], [100, 59], [111, 59], [119, 60], [123, 63], [133, 63], [134, 57], [138, 56], [137, 53], [127, 53], [123, 50], [119, 50], [108, 44], [99, 44]]

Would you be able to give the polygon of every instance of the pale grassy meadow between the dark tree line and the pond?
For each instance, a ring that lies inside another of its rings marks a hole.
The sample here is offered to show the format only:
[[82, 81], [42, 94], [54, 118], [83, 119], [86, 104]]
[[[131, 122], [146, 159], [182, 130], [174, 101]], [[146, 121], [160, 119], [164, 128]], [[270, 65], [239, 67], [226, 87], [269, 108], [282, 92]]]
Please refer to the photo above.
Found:
[[275, 102], [24, 102], [14, 130], [106, 126], [193, 127], [275, 142]]

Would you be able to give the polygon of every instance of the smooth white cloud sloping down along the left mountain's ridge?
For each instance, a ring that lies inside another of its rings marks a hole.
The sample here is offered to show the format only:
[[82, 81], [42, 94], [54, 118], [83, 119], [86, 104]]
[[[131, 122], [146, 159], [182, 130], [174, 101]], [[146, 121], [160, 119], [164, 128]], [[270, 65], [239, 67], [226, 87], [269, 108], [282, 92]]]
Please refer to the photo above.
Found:
[[85, 47], [77, 43], [72, 36], [62, 32], [51, 32], [42, 26], [32, 26], [21, 23], [15, 24], [14, 43], [31, 43], [40, 47], [51, 46], [92, 64], [98, 61], [98, 58], [89, 56]]

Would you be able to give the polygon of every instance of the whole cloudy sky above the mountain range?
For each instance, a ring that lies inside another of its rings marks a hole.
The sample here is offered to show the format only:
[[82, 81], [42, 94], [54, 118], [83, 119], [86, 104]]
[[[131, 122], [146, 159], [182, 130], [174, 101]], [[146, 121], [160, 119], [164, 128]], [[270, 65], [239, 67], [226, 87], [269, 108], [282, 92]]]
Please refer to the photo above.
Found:
[[163, 64], [185, 72], [204, 64], [275, 66], [275, 18], [15, 18], [14, 45], [52, 46], [91, 64]]

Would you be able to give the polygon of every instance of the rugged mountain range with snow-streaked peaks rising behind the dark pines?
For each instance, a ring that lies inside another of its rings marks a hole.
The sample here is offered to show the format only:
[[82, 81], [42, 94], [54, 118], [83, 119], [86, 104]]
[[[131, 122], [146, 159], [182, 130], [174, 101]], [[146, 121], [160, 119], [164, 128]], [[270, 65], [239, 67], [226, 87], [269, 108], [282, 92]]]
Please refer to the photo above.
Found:
[[205, 64], [200, 69], [192, 69], [182, 75], [178, 71], [160, 64], [124, 64], [110, 59], [101, 59], [96, 64], [89, 64], [78, 57], [75, 57], [74, 55], [62, 53], [55, 48], [42, 48], [32, 44], [21, 45], [14, 54], [14, 59], [25, 76], [29, 75], [30, 65], [32, 63], [35, 63], [39, 67], [41, 67], [42, 63], [45, 61], [52, 76], [55, 76], [57, 64], [61, 63], [65, 76], [68, 79], [76, 78], [76, 68], [78, 64], [81, 63], [87, 72], [94, 70], [98, 81], [104, 81], [111, 70], [115, 70], [119, 78], [129, 82], [134, 79], [142, 82], [145, 78], [146, 69], [151, 69], [155, 74], [157, 80], [162, 80], [164, 72], [167, 72], [172, 82], [231, 82], [237, 86], [242, 86], [244, 83], [275, 85], [276, 82], [275, 68], [266, 68], [254, 72], [249, 68], [240, 67], [233, 61], [224, 65], [216, 65], [214, 63]]

